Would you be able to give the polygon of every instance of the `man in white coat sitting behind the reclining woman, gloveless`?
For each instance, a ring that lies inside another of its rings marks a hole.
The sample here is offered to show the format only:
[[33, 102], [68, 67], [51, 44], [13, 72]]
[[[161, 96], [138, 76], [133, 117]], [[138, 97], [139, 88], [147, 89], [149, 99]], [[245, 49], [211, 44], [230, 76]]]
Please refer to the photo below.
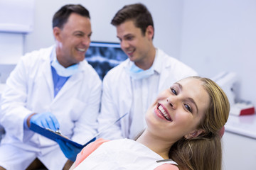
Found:
[[99, 130], [126, 115], [101, 137], [134, 139], [146, 128], [144, 115], [156, 95], [170, 84], [197, 73], [154, 47], [154, 23], [143, 4], [120, 9], [112, 19], [122, 50], [129, 59], [114, 67], [103, 80]]

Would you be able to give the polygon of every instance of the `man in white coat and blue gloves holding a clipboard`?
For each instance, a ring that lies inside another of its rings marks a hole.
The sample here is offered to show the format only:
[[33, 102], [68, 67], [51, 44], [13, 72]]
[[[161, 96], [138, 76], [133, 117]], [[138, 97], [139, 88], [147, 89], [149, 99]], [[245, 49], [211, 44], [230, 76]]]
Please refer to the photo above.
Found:
[[[0, 169], [63, 169], [68, 157], [60, 146], [31, 131], [34, 123], [80, 144], [97, 130], [101, 80], [85, 52], [92, 35], [90, 14], [81, 5], [65, 5], [53, 16], [55, 45], [26, 54], [6, 81], [0, 123]], [[80, 149], [78, 149], [78, 152]], [[75, 147], [70, 148], [75, 152]]]

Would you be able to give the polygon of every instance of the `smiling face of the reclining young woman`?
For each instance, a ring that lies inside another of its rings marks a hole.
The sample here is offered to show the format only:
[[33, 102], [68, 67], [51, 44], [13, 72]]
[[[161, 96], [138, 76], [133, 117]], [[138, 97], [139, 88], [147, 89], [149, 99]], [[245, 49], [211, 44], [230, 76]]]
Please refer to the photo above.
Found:
[[176, 142], [185, 136], [196, 137], [209, 96], [199, 79], [183, 79], [156, 98], [146, 113], [147, 130], [163, 140]]

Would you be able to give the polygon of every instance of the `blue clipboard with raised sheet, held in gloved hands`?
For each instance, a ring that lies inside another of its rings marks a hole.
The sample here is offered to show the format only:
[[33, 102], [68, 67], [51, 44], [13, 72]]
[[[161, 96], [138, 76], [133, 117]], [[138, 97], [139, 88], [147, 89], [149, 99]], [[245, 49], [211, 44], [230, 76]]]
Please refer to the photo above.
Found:
[[83, 148], [86, 145], [90, 144], [90, 142], [93, 142], [96, 140], [96, 137], [98, 135], [100, 135], [102, 132], [104, 132], [105, 130], [107, 130], [108, 128], [110, 128], [110, 126], [114, 125], [115, 123], [117, 123], [119, 120], [121, 120], [122, 118], [124, 118], [125, 115], [127, 115], [128, 113], [122, 115], [120, 118], [118, 118], [117, 120], [114, 121], [114, 123], [111, 123], [110, 125], [107, 125], [105, 128], [103, 128], [100, 132], [98, 132], [94, 137], [92, 137], [92, 139], [85, 143], [85, 145], [80, 145], [77, 142], [74, 142], [73, 140], [68, 139], [68, 137], [65, 137], [64, 135], [61, 135], [60, 132], [55, 132], [54, 130], [50, 130], [48, 128], [43, 128], [39, 125], [36, 125], [35, 123], [31, 123], [31, 127], [29, 128], [30, 130], [32, 130], [33, 132], [36, 132], [40, 135], [43, 135], [44, 137], [47, 137], [50, 140], [54, 140], [56, 142], [56, 140], [63, 140], [65, 142], [68, 142], [72, 145], [75, 145], [75, 147], [78, 148]]

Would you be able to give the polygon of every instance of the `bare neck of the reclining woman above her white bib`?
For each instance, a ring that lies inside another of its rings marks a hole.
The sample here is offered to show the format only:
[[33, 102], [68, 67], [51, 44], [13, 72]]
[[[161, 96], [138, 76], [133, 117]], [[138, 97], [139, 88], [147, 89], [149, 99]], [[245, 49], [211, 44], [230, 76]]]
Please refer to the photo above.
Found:
[[147, 130], [145, 130], [136, 141], [149, 147], [149, 149], [156, 152], [156, 154], [159, 154], [164, 159], [169, 159], [169, 150], [174, 144], [174, 142], [165, 141], [164, 139], [152, 135]]

